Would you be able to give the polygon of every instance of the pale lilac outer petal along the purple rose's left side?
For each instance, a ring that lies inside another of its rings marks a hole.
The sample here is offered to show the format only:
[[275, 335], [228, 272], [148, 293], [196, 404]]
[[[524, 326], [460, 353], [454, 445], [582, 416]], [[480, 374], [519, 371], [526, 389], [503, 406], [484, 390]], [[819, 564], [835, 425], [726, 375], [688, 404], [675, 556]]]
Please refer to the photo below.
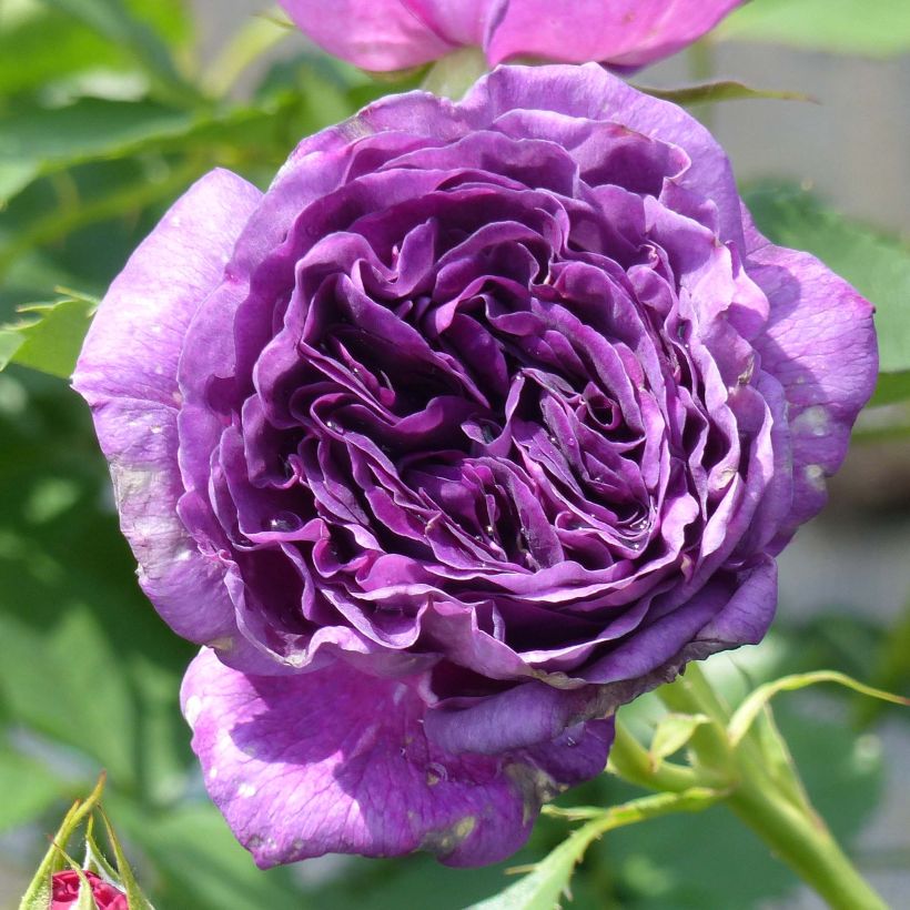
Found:
[[140, 584], [171, 627], [198, 643], [228, 634], [234, 621], [221, 569], [176, 515], [178, 361], [193, 314], [260, 198], [222, 170], [181, 196], [111, 285], [73, 374], [111, 464]]

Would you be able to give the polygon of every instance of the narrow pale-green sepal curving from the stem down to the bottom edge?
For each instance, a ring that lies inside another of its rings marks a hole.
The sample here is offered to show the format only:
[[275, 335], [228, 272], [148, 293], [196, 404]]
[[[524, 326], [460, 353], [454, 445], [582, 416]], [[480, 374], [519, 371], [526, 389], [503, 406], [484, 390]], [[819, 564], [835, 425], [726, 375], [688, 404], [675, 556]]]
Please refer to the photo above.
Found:
[[635, 825], [669, 812], [698, 812], [714, 806], [724, 793], [694, 787], [681, 793], [657, 793], [603, 810], [599, 818], [573, 831], [530, 874], [489, 900], [468, 910], [553, 910], [568, 891], [575, 867], [592, 841], [607, 831]]

